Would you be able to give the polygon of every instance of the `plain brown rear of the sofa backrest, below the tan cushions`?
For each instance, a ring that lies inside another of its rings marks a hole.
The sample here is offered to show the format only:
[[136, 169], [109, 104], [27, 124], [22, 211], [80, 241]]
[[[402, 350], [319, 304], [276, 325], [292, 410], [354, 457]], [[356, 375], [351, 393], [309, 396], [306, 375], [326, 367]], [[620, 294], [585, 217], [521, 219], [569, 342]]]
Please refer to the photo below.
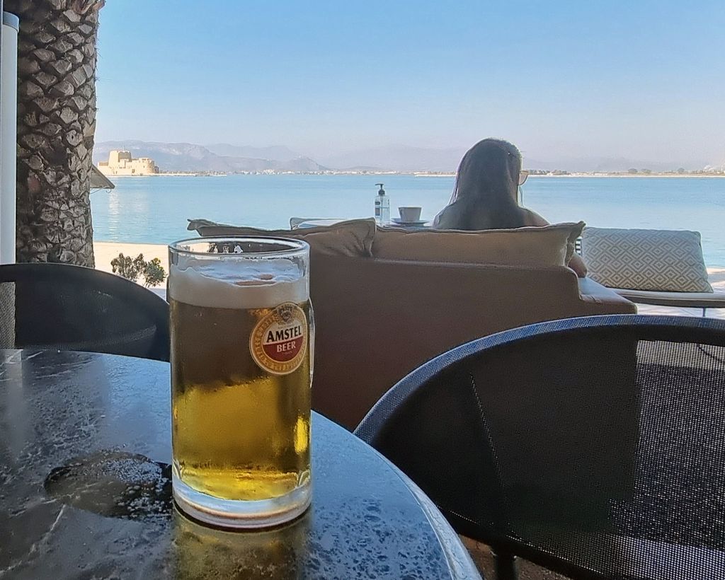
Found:
[[399, 379], [464, 342], [539, 321], [634, 312], [613, 294], [582, 299], [564, 266], [326, 256], [310, 266], [310, 296], [312, 406], [348, 429]]

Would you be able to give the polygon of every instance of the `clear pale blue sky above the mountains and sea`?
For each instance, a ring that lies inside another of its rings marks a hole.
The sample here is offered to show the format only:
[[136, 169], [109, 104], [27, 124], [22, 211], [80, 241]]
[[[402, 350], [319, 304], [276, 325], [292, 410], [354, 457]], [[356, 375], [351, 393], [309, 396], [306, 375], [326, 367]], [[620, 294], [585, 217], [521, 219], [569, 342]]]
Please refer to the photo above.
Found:
[[725, 2], [108, 0], [96, 140], [725, 163]]

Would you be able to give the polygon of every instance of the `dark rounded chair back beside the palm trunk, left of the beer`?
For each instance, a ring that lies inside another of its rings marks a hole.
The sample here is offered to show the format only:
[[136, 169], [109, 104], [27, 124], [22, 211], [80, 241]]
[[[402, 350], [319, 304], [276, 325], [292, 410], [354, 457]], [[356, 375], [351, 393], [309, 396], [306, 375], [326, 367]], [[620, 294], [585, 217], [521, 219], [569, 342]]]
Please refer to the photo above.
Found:
[[169, 306], [115, 274], [67, 264], [0, 266], [0, 348], [169, 360]]

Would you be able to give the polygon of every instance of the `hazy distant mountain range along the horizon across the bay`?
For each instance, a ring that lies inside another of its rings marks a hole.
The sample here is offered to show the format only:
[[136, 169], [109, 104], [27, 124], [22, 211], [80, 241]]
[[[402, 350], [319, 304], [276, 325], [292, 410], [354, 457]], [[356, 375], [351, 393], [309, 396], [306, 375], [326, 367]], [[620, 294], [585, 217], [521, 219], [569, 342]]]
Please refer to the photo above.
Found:
[[[94, 162], [107, 161], [112, 149], [126, 149], [134, 157], [151, 157], [162, 171], [188, 172], [319, 172], [339, 171], [397, 171], [397, 172], [455, 172], [465, 148], [422, 148], [381, 146], [348, 151], [335, 155], [311, 156], [292, 151], [285, 146], [251, 147], [228, 143], [201, 146], [194, 143], [157, 143], [139, 140], [104, 141], [96, 143]], [[677, 163], [627, 159], [624, 157], [560, 158], [555, 161], [524, 159], [526, 169], [568, 172], [626, 172], [630, 168], [650, 169], [653, 172], [674, 171]], [[700, 169], [705, 162], [685, 164], [685, 169]], [[713, 166], [708, 166], [711, 168]]]

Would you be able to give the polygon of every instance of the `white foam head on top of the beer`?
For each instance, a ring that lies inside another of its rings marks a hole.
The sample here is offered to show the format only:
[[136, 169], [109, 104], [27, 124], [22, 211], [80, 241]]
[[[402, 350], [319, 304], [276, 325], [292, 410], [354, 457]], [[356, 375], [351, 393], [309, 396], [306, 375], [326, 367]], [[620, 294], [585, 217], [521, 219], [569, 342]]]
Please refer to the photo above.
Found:
[[220, 257], [200, 260], [178, 256], [170, 264], [169, 298], [210, 308], [273, 308], [310, 298], [299, 265], [286, 259], [244, 261]]

